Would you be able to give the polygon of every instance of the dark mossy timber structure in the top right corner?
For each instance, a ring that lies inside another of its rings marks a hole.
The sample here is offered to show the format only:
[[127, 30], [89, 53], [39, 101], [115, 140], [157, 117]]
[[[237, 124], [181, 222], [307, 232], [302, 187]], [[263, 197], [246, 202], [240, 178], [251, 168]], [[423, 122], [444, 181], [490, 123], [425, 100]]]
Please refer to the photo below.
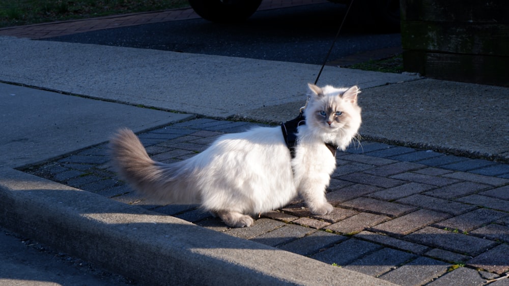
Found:
[[405, 71], [509, 86], [509, 1], [400, 0], [400, 4]]

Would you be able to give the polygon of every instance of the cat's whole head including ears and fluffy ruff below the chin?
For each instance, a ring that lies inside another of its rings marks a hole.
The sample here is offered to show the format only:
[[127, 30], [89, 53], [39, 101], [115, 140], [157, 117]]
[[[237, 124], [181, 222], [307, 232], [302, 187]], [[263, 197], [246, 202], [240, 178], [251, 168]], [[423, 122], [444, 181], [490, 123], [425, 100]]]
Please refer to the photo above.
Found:
[[[336, 88], [330, 85], [318, 87], [308, 84], [310, 100], [304, 111], [306, 125], [330, 139], [342, 149], [345, 142], [357, 134], [361, 108], [357, 105], [357, 86]], [[341, 137], [341, 138], [340, 138]], [[350, 137], [347, 139], [347, 137]], [[345, 141], [345, 142], [338, 142]]]

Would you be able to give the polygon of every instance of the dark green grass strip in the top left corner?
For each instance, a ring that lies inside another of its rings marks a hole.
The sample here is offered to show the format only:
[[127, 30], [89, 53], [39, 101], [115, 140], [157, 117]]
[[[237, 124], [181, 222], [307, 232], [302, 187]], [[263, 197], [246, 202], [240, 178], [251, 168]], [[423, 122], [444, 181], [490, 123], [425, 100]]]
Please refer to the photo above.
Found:
[[0, 27], [188, 6], [187, 0], [0, 0]]

